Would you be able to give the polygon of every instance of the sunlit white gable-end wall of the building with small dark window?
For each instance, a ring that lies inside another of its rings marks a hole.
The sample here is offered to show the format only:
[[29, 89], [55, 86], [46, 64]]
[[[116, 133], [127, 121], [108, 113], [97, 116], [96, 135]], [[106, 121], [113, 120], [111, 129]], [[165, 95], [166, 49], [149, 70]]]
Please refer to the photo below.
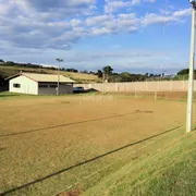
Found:
[[[14, 87], [15, 84], [19, 84], [20, 87]], [[21, 75], [19, 77], [10, 79], [9, 91], [37, 95], [38, 85], [37, 85], [37, 82], [32, 81], [28, 77]]]

